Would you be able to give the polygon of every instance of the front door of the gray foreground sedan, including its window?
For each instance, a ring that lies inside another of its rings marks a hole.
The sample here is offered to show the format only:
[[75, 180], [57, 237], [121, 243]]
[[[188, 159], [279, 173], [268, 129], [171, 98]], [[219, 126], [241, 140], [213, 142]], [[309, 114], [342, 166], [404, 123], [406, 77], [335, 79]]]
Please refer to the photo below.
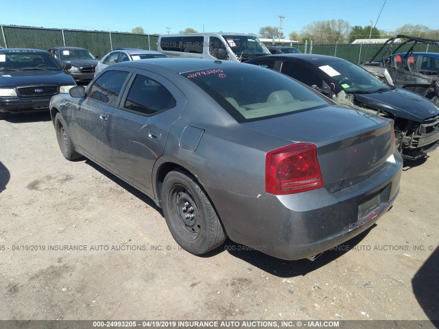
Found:
[[106, 71], [87, 88], [84, 99], [73, 108], [73, 130], [75, 144], [80, 153], [110, 165], [111, 114], [119, 104], [123, 86], [128, 81], [130, 69]]

